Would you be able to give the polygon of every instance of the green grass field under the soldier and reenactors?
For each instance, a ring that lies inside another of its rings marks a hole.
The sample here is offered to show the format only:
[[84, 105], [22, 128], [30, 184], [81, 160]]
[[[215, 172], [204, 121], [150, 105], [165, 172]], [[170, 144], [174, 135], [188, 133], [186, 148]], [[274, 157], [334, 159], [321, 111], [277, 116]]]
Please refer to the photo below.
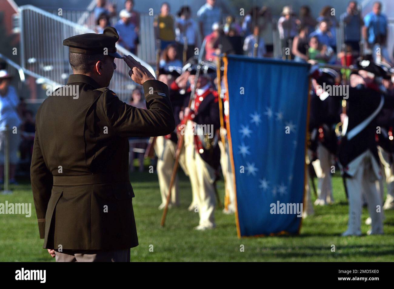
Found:
[[[216, 211], [217, 228], [193, 230], [198, 214], [187, 211], [191, 201], [188, 178], [180, 174], [181, 206], [170, 209], [165, 228], [156, 174], [131, 174], [139, 246], [131, 250], [132, 261], [393, 261], [394, 211], [385, 211], [385, 235], [366, 235], [362, 214], [362, 237], [340, 237], [346, 230], [348, 205], [339, 176], [333, 178], [335, 204], [315, 207], [315, 215], [303, 220], [298, 236], [238, 239], [234, 215]], [[33, 203], [28, 180], [21, 180], [12, 195], [0, 195], [0, 203]], [[223, 182], [218, 183], [223, 199]], [[32, 209], [34, 205], [32, 204]], [[35, 211], [32, 217], [0, 215], [0, 261], [54, 261], [42, 248]], [[153, 252], [149, 251], [153, 245]], [[244, 252], [240, 252], [244, 245]], [[335, 252], [331, 246], [335, 245]]]

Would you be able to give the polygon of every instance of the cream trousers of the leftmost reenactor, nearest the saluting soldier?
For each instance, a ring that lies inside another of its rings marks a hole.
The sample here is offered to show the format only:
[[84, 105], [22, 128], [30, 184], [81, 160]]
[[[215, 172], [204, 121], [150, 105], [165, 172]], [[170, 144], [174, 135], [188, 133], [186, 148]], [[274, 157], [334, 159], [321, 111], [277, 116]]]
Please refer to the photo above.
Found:
[[[154, 145], [157, 160], [157, 176], [159, 179], [160, 195], [162, 196], [162, 204], [167, 202], [168, 190], [171, 181], [171, 174], [175, 163], [175, 152], [177, 144], [165, 137], [157, 137]], [[185, 166], [185, 150], [182, 148], [179, 156], [179, 165], [187, 175]], [[175, 178], [173, 187], [171, 188], [171, 204], [179, 204], [178, 175]]]

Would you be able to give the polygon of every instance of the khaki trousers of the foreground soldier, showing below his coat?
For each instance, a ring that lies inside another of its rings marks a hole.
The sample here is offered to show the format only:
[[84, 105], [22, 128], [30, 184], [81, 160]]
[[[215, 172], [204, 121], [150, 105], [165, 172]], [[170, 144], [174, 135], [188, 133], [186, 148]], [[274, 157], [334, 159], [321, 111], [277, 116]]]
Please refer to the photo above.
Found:
[[108, 251], [55, 250], [56, 262], [130, 262], [130, 249]]

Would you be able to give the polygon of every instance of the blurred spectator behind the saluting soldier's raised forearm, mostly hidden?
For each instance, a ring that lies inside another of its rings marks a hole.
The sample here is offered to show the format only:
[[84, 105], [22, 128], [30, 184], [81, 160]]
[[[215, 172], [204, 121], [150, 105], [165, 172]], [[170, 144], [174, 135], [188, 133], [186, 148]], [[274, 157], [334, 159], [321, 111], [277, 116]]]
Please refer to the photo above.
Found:
[[[145, 104], [145, 98], [142, 96], [141, 90], [136, 88], [133, 90], [130, 97], [130, 106], [134, 106], [137, 108], [147, 109]], [[141, 140], [141, 142], [139, 142]], [[130, 144], [130, 153], [129, 153], [129, 164], [130, 170], [134, 172], [134, 158], [135, 154], [138, 154], [139, 160], [139, 171], [143, 172], [144, 170], [144, 152], [147, 147], [147, 139], [143, 137], [132, 137], [129, 139]]]

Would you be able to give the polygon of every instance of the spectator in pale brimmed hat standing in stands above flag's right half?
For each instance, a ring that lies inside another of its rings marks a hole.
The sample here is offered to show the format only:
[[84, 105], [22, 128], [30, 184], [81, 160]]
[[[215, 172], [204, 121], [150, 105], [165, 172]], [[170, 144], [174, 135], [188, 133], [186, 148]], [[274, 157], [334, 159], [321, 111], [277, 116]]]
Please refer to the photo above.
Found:
[[292, 47], [293, 38], [297, 35], [299, 20], [290, 6], [284, 6], [282, 16], [278, 20], [279, 38], [282, 42], [282, 50]]

